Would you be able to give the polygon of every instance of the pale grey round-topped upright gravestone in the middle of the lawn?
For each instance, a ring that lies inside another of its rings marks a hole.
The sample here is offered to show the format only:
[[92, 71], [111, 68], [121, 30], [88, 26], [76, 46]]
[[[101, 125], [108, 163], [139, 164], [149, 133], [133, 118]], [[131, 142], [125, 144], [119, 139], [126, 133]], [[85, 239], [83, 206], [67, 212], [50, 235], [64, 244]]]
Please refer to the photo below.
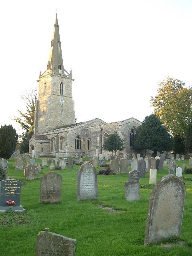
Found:
[[90, 163], [84, 163], [77, 172], [77, 200], [97, 199], [97, 172]]

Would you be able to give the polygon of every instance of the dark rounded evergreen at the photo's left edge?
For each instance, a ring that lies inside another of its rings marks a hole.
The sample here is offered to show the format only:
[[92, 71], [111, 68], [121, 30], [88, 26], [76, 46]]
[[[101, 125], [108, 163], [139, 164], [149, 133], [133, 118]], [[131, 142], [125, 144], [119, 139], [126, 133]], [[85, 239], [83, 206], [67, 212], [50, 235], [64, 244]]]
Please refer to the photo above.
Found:
[[0, 157], [9, 159], [15, 150], [18, 140], [16, 130], [12, 125], [3, 125], [0, 128]]

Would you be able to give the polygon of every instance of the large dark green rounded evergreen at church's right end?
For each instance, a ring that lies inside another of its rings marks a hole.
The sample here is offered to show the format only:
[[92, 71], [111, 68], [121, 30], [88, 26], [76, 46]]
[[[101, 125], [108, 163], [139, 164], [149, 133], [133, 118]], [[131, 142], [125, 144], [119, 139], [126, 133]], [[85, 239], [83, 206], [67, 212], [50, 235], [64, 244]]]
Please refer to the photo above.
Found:
[[146, 116], [143, 123], [137, 128], [133, 147], [136, 150], [153, 150], [162, 153], [172, 149], [172, 138], [168, 134], [160, 118], [155, 114]]

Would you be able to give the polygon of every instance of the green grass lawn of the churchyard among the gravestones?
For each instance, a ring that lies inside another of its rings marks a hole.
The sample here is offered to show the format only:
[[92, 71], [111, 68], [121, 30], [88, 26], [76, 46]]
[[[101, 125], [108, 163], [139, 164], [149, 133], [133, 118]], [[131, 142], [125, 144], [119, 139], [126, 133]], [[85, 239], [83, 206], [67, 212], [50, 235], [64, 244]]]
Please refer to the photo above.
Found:
[[[76, 175], [80, 166], [57, 170], [63, 177], [62, 202], [39, 204], [40, 177], [48, 172], [43, 167], [37, 180], [24, 179], [24, 171], [14, 170], [9, 160], [8, 176], [21, 180], [23, 213], [0, 213], [0, 255], [34, 256], [36, 236], [41, 230], [76, 239], [76, 256], [190, 256], [192, 255], [192, 180], [186, 184], [186, 202], [180, 240], [184, 246], [163, 249], [160, 243], [144, 247], [148, 200], [154, 185], [149, 185], [148, 173], [140, 179], [140, 201], [125, 200], [124, 182], [128, 174], [98, 176], [98, 200], [77, 201]], [[42, 162], [41, 159], [38, 162]], [[177, 162], [188, 164], [188, 160]], [[100, 170], [100, 168], [96, 168]], [[168, 173], [168, 167], [158, 171], [157, 180]], [[191, 174], [184, 174], [192, 178]], [[97, 204], [112, 206], [121, 213], [109, 213]], [[178, 238], [168, 240], [176, 244]]]

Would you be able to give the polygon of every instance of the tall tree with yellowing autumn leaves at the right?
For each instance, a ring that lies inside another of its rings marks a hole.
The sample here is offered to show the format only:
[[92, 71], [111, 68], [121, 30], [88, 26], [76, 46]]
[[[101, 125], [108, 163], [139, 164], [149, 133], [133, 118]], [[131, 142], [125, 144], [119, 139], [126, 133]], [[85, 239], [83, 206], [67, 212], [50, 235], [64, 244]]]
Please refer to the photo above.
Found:
[[159, 83], [158, 95], [151, 98], [154, 113], [167, 131], [181, 137], [182, 141], [192, 119], [192, 88], [184, 86], [184, 82], [166, 77]]

